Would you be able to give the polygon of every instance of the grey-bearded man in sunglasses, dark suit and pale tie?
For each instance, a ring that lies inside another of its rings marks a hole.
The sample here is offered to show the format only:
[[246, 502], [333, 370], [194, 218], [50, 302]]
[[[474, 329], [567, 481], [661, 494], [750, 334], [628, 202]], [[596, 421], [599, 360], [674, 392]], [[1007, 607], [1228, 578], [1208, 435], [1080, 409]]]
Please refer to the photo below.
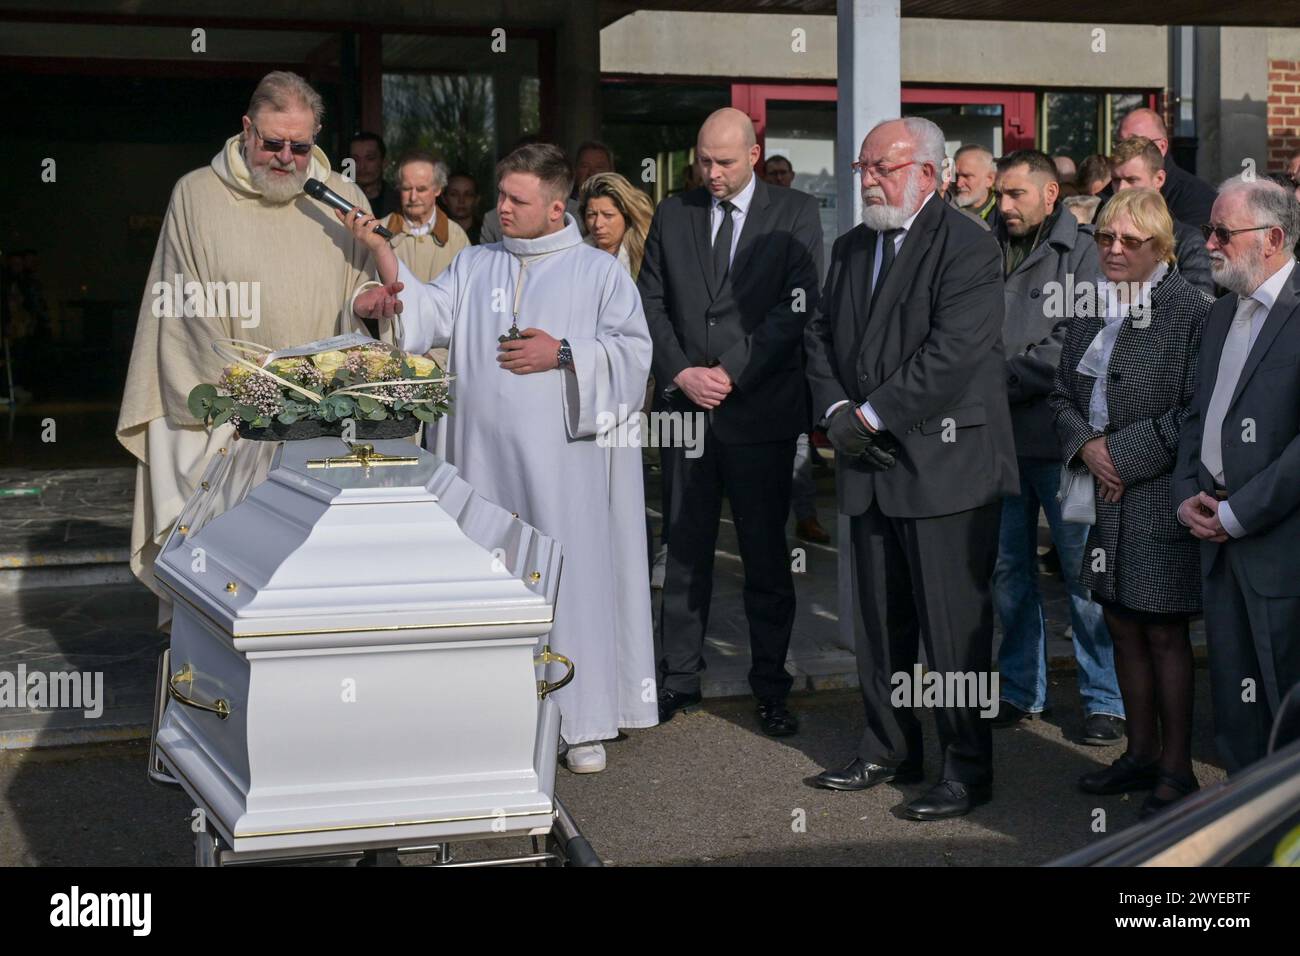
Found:
[[1236, 771], [1265, 756], [1300, 683], [1300, 204], [1230, 179], [1210, 222], [1230, 294], [1205, 320], [1170, 507], [1201, 540], [1214, 739]]

